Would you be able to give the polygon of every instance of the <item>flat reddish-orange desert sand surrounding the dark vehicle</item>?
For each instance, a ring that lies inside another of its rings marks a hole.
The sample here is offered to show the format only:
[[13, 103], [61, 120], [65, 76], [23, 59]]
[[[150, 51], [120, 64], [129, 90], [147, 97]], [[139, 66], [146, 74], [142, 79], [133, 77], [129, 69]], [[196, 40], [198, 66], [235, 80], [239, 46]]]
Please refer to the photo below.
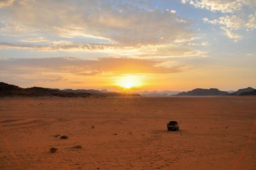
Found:
[[0, 169], [256, 169], [255, 128], [256, 97], [0, 98]]

